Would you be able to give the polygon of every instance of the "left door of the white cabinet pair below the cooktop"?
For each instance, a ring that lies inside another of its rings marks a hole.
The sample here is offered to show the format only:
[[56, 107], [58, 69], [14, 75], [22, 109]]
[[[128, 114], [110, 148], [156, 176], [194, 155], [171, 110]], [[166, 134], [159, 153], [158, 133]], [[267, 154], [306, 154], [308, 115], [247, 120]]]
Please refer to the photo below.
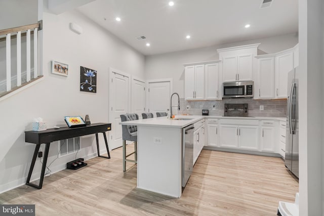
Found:
[[220, 147], [237, 148], [238, 128], [236, 125], [219, 125]]

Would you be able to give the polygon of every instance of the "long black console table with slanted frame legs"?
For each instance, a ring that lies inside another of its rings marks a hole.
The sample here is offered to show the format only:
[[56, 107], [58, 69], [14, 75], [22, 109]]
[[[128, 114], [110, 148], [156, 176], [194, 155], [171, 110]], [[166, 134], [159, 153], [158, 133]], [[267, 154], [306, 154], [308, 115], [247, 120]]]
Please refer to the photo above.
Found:
[[[34, 155], [32, 156], [32, 161], [28, 172], [26, 185], [29, 185], [37, 189], [42, 188], [50, 144], [51, 142], [54, 141], [65, 140], [73, 137], [81, 137], [90, 134], [96, 134], [98, 157], [110, 158], [107, 137], [105, 133], [107, 131], [111, 131], [111, 123], [94, 123], [91, 125], [87, 125], [83, 127], [74, 127], [74, 128], [69, 128], [69, 127], [60, 127], [58, 129], [51, 128], [51, 129], [47, 129], [46, 131], [26, 131], [25, 142], [36, 144]], [[99, 153], [98, 133], [103, 134], [103, 138], [105, 139], [105, 143], [106, 143], [108, 157], [101, 156]], [[39, 147], [41, 147], [41, 144], [43, 143], [45, 144], [45, 151], [44, 151], [44, 160], [42, 165], [41, 179], [39, 179], [39, 185], [35, 185], [33, 183], [30, 183], [29, 181], [38, 155]]]

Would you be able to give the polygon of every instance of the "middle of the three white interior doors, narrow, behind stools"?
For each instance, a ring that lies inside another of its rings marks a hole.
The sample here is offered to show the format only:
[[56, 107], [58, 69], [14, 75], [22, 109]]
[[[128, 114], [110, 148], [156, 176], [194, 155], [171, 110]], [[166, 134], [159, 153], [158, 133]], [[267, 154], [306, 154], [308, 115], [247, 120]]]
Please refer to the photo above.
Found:
[[145, 82], [133, 79], [132, 84], [132, 112], [137, 113], [142, 118], [145, 111]]

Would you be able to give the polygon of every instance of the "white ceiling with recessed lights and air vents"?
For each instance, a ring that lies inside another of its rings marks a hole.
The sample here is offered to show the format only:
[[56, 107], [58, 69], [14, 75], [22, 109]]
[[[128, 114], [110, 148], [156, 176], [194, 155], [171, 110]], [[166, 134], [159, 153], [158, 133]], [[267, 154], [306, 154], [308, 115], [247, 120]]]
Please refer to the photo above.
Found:
[[[170, 7], [169, 0], [97, 0], [77, 10], [144, 55], [298, 32], [298, 0], [273, 0], [261, 9], [263, 0], [173, 2]], [[136, 38], [142, 35], [146, 39]]]

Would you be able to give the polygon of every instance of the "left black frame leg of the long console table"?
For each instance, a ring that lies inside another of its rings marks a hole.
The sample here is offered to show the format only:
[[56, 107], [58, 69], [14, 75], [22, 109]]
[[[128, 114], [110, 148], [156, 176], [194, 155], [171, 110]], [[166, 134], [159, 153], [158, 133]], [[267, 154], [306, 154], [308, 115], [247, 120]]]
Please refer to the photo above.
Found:
[[36, 161], [36, 158], [37, 158], [37, 154], [38, 154], [38, 151], [39, 151], [39, 147], [41, 145], [36, 145], [35, 147], [35, 151], [34, 151], [34, 155], [32, 157], [32, 161], [31, 161], [31, 164], [30, 164], [30, 168], [29, 168], [29, 172], [28, 172], [28, 177], [27, 177], [27, 181], [26, 181], [26, 185], [29, 185], [31, 187], [34, 187], [34, 188], [37, 188], [37, 189], [42, 189], [43, 187], [43, 180], [44, 180], [44, 176], [45, 176], [45, 169], [46, 169], [46, 163], [47, 163], [47, 157], [49, 155], [49, 150], [50, 150], [50, 143], [46, 143], [45, 144], [45, 152], [44, 152], [44, 159], [43, 159], [43, 165], [42, 165], [42, 172], [41, 172], [41, 178], [39, 179], [39, 184], [38, 185], [35, 185], [33, 183], [30, 183], [30, 177], [31, 177], [31, 174], [32, 174], [32, 170], [34, 168], [34, 165], [35, 165], [35, 161]]

